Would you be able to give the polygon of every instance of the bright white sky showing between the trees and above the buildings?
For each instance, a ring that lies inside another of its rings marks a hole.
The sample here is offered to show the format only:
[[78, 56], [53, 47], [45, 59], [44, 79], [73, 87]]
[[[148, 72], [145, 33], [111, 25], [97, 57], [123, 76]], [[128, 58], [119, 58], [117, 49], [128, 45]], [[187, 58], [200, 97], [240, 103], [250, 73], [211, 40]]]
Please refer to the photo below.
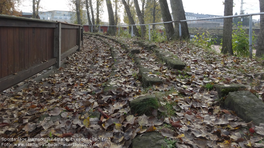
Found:
[[[199, 14], [211, 14], [224, 16], [224, 0], [182, 0], [185, 12], [199, 13]], [[241, 0], [233, 0], [235, 7], [233, 7], [233, 15], [237, 12], [240, 13]], [[259, 0], [243, 0], [243, 10], [245, 13], [258, 13], [259, 10]], [[31, 0], [25, 0], [21, 10], [23, 12], [31, 12], [32, 4]], [[105, 3], [104, 3], [105, 4]], [[170, 6], [169, 0], [168, 4]], [[40, 11], [51, 11], [51, 10], [61, 10], [70, 11], [68, 6], [68, 0], [41, 0], [40, 5], [45, 9], [40, 9]], [[94, 5], [93, 8], [96, 8]], [[108, 14], [106, 6], [104, 6], [104, 14], [102, 15], [103, 21], [108, 21]], [[171, 11], [171, 10], [170, 10]], [[124, 12], [124, 11], [121, 11]], [[123, 17], [123, 14], [121, 14]], [[253, 19], [258, 20], [259, 16], [253, 16]], [[123, 22], [123, 18], [121, 18]]]

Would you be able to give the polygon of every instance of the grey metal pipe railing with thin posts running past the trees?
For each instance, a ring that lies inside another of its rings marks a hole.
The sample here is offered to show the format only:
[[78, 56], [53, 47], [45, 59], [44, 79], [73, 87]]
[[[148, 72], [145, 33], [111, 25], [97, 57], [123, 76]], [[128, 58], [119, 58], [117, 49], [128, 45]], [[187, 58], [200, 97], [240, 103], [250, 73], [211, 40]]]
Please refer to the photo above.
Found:
[[[249, 16], [249, 57], [252, 58], [252, 16], [256, 15], [264, 15], [264, 12], [260, 13], [250, 13], [250, 14], [241, 14], [241, 15], [234, 15], [234, 16], [220, 16], [220, 17], [214, 17], [214, 18], [197, 18], [197, 19], [190, 19], [190, 20], [181, 20], [181, 21], [170, 21], [170, 22], [161, 22], [161, 23], [151, 23], [151, 24], [136, 24], [138, 25], [148, 25], [148, 36], [149, 40], [151, 40], [151, 34], [150, 34], [150, 25], [153, 24], [165, 24], [165, 23], [173, 23], [173, 22], [179, 22], [179, 32], [180, 32], [180, 37], [181, 37], [181, 22], [187, 22], [187, 21], [200, 21], [200, 20], [214, 20], [214, 19], [221, 19], [221, 18], [236, 18], [236, 17], [243, 17], [243, 16]], [[98, 25], [92, 25], [93, 26], [98, 26]], [[107, 26], [107, 25], [104, 25]], [[111, 26], [111, 25], [108, 25]], [[112, 26], [118, 26], [118, 36], [120, 35], [120, 26], [133, 26], [134, 25], [112, 25]], [[92, 29], [93, 30], [93, 29]], [[100, 30], [100, 25], [99, 25], [99, 30]], [[131, 36], [133, 37], [133, 31], [131, 31]]]

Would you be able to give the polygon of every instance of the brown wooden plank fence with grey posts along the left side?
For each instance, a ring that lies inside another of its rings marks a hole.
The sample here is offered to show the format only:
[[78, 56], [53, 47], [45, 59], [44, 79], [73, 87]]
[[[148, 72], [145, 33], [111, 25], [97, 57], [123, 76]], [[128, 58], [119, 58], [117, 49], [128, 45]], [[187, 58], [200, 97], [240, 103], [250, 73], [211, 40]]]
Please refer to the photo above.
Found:
[[0, 15], [0, 91], [79, 51], [83, 26]]

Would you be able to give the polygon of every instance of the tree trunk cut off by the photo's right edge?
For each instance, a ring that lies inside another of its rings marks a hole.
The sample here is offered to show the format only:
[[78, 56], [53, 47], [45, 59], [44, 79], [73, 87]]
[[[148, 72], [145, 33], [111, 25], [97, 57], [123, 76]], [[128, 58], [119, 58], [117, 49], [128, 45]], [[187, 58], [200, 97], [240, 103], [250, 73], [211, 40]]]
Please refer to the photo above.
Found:
[[[264, 0], [259, 0], [260, 12], [264, 12]], [[256, 57], [264, 57], [264, 15], [260, 15], [260, 32]]]

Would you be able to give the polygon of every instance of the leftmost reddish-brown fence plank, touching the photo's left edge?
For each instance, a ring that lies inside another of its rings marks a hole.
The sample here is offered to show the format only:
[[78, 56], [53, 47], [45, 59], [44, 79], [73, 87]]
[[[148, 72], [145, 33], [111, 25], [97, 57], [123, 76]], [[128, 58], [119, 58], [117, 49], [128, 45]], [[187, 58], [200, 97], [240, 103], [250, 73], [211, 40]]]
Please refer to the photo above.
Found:
[[7, 27], [0, 27], [1, 30], [1, 77], [8, 76], [8, 53], [7, 53]]

